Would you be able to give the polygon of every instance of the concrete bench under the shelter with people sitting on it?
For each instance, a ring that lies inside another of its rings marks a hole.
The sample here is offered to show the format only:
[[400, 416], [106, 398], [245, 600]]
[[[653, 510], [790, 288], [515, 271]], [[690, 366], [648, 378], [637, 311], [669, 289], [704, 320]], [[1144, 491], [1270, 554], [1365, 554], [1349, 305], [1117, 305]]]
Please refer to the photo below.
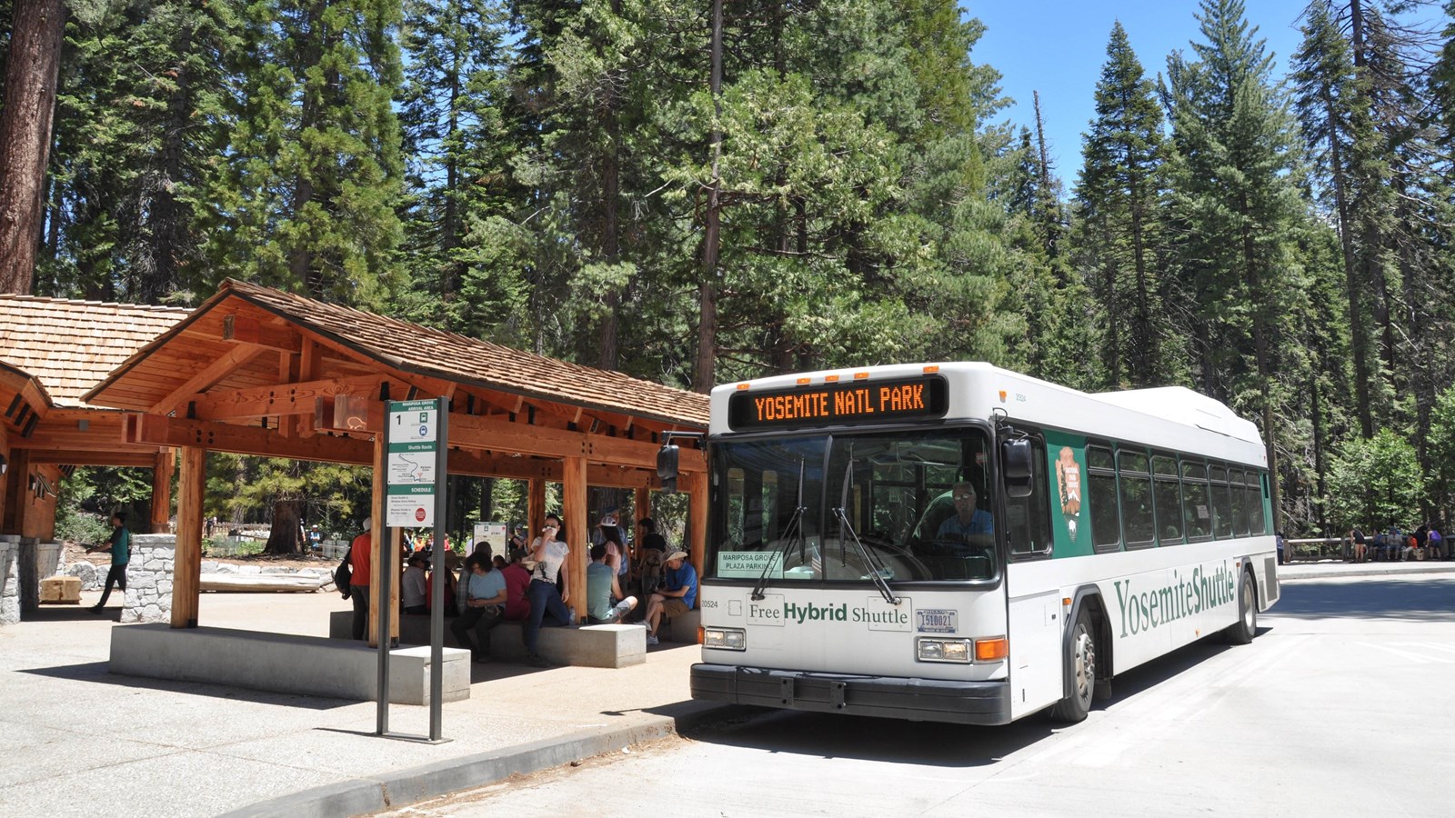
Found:
[[[694, 614], [697, 611], [693, 611]], [[445, 645], [454, 645], [450, 633], [453, 617], [445, 619]], [[329, 638], [351, 639], [354, 611], [329, 614]], [[693, 626], [697, 640], [697, 626]], [[428, 645], [429, 617], [404, 614], [399, 620], [400, 645]], [[582, 668], [624, 668], [646, 661], [646, 629], [640, 624], [583, 624], [578, 627], [541, 627], [537, 649], [541, 656], [562, 665]], [[490, 630], [490, 655], [503, 661], [524, 661], [525, 642], [521, 623], [502, 622]]]

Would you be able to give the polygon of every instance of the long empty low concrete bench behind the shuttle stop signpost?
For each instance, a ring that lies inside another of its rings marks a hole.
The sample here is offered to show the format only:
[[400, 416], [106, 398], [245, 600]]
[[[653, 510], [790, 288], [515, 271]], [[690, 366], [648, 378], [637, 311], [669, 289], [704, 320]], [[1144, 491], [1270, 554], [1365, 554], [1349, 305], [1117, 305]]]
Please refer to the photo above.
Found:
[[[396, 648], [388, 661], [388, 700], [429, 703], [429, 648]], [[111, 629], [111, 672], [228, 684], [252, 690], [303, 693], [332, 699], [378, 699], [378, 651], [290, 633], [223, 627], [173, 629], [125, 624]], [[470, 697], [470, 652], [444, 651], [442, 699]]]

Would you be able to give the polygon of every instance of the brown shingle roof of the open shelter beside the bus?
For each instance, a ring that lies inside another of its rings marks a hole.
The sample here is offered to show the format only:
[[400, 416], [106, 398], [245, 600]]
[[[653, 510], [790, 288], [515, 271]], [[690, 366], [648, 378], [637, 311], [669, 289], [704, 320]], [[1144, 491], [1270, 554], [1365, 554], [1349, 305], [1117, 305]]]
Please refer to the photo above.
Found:
[[[303, 295], [256, 284], [227, 279], [217, 295], [196, 309], [191, 319], [138, 351], [127, 365], [99, 384], [92, 397], [103, 393], [147, 355], [178, 339], [207, 313], [240, 298], [272, 313], [303, 330], [313, 332], [386, 367], [445, 381], [477, 386], [547, 400], [586, 410], [598, 409], [671, 425], [707, 428], [706, 394], [672, 389], [633, 378], [621, 373], [595, 370], [499, 344], [419, 326], [387, 316], [377, 316], [314, 301]], [[191, 373], [178, 373], [180, 383]], [[164, 394], [164, 392], [163, 392]]]

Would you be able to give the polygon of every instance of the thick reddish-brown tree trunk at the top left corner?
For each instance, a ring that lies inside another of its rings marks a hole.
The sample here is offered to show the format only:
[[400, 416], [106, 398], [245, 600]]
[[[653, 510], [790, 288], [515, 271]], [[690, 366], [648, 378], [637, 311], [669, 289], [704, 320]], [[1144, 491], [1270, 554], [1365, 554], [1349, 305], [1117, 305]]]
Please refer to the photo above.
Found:
[[35, 277], [64, 32], [61, 0], [16, 0], [0, 108], [0, 293], [28, 295]]

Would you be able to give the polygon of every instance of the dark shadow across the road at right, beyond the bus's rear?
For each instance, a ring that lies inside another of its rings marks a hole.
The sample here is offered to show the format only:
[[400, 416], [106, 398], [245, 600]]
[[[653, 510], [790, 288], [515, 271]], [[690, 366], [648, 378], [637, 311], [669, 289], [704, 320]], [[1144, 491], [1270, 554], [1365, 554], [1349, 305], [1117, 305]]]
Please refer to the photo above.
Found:
[[[1347, 582], [1301, 581], [1283, 585], [1283, 598], [1263, 616], [1289, 619], [1397, 619], [1449, 622], [1455, 613], [1451, 581], [1362, 578]], [[1355, 591], [1358, 588], [1358, 592]]]

